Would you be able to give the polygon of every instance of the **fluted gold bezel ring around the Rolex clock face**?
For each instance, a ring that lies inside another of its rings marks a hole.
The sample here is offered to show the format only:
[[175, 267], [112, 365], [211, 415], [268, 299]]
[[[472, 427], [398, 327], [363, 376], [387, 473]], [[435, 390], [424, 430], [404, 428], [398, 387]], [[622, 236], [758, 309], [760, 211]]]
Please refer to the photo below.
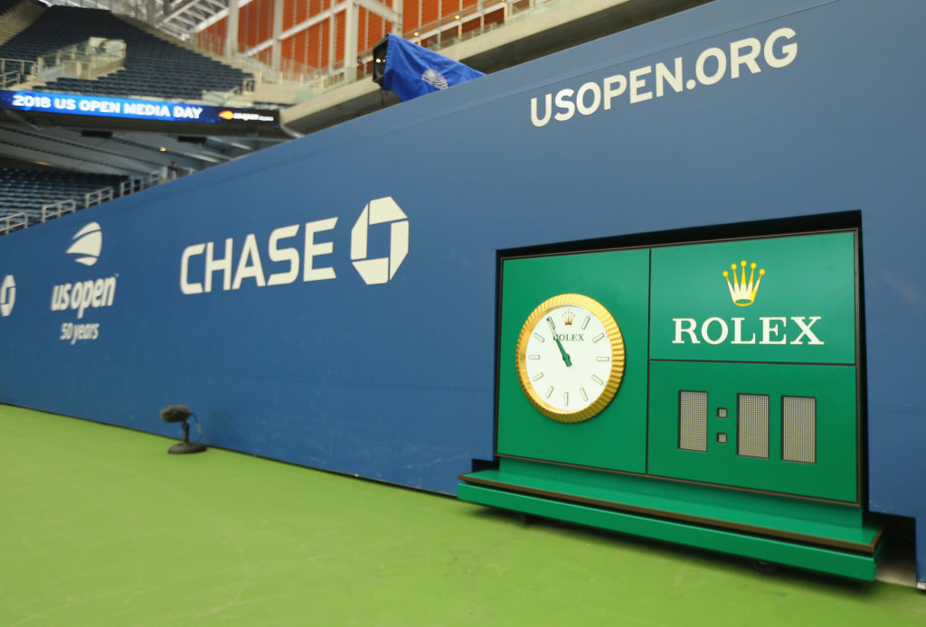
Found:
[[[534, 390], [531, 385], [531, 379], [527, 375], [527, 340], [531, 337], [534, 326], [537, 326], [537, 323], [544, 315], [569, 305], [583, 307], [594, 315], [594, 317], [601, 322], [602, 326], [605, 327], [605, 333], [611, 342], [611, 372], [605, 382], [605, 389], [591, 405], [577, 412], [564, 412], [546, 402], [546, 400]], [[524, 395], [531, 401], [531, 404], [538, 412], [543, 413], [547, 418], [551, 418], [559, 423], [582, 423], [590, 418], [594, 418], [594, 416], [602, 412], [611, 400], [614, 399], [614, 396], [618, 393], [620, 382], [624, 378], [625, 350], [624, 338], [620, 333], [620, 327], [614, 319], [614, 316], [607, 311], [607, 308], [603, 304], [583, 294], [558, 294], [537, 305], [521, 326], [516, 356], [518, 361], [518, 381], [521, 389], [524, 391]]]

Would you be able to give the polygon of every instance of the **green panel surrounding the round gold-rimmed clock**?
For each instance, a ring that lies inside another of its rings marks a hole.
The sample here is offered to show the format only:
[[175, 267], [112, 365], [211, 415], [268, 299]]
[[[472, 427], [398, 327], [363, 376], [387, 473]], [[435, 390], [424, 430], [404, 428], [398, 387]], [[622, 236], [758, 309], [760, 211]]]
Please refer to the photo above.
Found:
[[[646, 346], [649, 251], [510, 259], [502, 267], [498, 452], [643, 473], [646, 454]], [[627, 352], [617, 396], [591, 420], [564, 424], [537, 412], [521, 390], [515, 351], [533, 309], [561, 293], [601, 302]]]

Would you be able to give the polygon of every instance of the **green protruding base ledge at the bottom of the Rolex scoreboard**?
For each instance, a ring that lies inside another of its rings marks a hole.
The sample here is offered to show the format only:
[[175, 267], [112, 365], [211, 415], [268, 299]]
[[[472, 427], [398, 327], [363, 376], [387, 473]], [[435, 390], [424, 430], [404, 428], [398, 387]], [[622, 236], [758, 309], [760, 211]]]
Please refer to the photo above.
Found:
[[883, 545], [838, 503], [510, 459], [460, 480], [473, 503], [862, 581]]

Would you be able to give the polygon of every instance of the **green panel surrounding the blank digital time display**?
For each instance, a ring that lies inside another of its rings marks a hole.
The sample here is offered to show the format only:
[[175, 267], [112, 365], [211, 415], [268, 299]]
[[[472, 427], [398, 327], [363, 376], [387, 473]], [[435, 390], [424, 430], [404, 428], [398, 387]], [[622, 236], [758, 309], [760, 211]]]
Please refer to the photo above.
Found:
[[[707, 392], [707, 450], [680, 448], [680, 390]], [[737, 395], [768, 395], [768, 458], [739, 454]], [[816, 459], [782, 460], [782, 396], [816, 399]], [[719, 417], [725, 409], [726, 418]], [[722, 413], [722, 412], [721, 412]], [[718, 434], [726, 435], [720, 443]], [[650, 363], [649, 473], [807, 497], [857, 500], [856, 369]]]

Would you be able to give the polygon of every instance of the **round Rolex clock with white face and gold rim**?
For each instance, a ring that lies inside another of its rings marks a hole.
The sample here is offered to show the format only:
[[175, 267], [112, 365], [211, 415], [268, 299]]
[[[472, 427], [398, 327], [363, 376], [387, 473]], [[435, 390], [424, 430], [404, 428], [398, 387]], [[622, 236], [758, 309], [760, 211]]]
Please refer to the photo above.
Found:
[[521, 326], [518, 379], [532, 405], [560, 423], [601, 412], [624, 375], [624, 340], [604, 305], [582, 294], [541, 302]]

